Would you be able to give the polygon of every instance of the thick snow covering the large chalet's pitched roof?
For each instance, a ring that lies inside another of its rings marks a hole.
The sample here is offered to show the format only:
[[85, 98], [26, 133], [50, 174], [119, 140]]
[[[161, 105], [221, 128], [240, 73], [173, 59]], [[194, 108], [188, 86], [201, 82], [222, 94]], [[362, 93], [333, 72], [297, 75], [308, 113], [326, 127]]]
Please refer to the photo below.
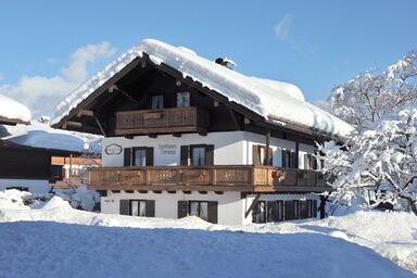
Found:
[[100, 86], [122, 71], [136, 58], [148, 54], [153, 63], [164, 63], [182, 76], [201, 83], [236, 102], [279, 124], [306, 126], [333, 136], [346, 136], [353, 127], [342, 119], [304, 101], [301, 90], [291, 84], [249, 77], [213, 61], [201, 58], [184, 47], [173, 47], [154, 39], [144, 39], [123, 53], [91, 79], [76, 88], [55, 108], [52, 124], [63, 117], [89, 97]]

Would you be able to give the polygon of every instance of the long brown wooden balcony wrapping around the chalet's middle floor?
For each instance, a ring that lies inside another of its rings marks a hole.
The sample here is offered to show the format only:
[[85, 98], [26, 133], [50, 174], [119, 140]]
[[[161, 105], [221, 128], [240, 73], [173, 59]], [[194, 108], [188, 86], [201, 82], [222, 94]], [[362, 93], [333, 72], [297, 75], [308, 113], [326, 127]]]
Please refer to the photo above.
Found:
[[244, 192], [321, 192], [331, 190], [321, 174], [271, 166], [94, 167], [90, 190], [185, 190]]

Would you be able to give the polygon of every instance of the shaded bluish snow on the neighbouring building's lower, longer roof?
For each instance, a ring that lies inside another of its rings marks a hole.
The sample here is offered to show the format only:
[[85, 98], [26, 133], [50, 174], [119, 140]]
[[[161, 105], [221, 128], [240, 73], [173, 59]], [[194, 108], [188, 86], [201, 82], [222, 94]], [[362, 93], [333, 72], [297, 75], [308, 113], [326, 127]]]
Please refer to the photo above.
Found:
[[31, 121], [30, 125], [4, 126], [3, 140], [22, 146], [70, 152], [100, 153], [101, 137], [51, 128], [48, 124]]

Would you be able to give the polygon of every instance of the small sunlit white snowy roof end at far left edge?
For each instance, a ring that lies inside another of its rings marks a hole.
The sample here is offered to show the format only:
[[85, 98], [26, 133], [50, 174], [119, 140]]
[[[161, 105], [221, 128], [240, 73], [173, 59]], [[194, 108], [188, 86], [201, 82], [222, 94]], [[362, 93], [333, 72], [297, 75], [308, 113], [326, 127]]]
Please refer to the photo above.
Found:
[[29, 122], [31, 114], [22, 103], [4, 94], [0, 94], [0, 117], [10, 119], [11, 122]]

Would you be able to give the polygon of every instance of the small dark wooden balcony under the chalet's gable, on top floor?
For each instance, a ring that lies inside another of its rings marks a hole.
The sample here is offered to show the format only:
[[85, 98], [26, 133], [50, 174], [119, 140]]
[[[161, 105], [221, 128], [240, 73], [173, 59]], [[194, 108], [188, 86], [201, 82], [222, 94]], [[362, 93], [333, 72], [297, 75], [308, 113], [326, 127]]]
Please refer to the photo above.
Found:
[[208, 113], [198, 108], [116, 112], [116, 135], [206, 132]]

